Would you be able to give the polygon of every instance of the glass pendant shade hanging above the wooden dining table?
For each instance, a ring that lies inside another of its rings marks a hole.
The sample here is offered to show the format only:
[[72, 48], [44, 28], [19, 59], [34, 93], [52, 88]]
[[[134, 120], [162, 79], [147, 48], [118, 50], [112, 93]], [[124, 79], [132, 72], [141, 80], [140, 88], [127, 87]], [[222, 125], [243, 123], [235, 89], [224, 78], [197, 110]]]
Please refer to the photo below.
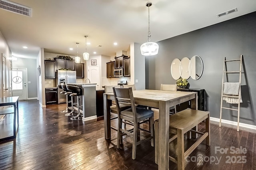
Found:
[[140, 52], [143, 56], [154, 56], [158, 54], [159, 46], [155, 42], [145, 42], [140, 46]]

